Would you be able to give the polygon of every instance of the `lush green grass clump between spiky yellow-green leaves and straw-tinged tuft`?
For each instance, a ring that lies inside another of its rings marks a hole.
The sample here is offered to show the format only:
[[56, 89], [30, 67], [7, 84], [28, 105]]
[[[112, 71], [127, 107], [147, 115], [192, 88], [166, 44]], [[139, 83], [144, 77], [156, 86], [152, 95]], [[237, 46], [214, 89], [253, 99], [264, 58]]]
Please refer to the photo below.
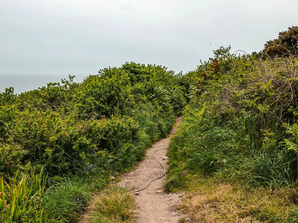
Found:
[[43, 207], [49, 219], [63, 222], [77, 221], [94, 191], [103, 189], [108, 175], [95, 173], [89, 176], [66, 176], [51, 182], [55, 185], [44, 194]]

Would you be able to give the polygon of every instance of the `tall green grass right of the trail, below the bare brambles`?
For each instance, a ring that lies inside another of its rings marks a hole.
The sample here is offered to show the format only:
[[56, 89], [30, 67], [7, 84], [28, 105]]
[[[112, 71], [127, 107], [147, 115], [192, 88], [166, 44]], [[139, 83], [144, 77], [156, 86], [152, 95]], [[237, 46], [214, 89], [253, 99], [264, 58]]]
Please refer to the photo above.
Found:
[[169, 150], [170, 157], [187, 160], [187, 169], [251, 186], [290, 186], [297, 178], [295, 153], [285, 148], [286, 131], [278, 119], [266, 127], [250, 113], [201, 122], [188, 115]]

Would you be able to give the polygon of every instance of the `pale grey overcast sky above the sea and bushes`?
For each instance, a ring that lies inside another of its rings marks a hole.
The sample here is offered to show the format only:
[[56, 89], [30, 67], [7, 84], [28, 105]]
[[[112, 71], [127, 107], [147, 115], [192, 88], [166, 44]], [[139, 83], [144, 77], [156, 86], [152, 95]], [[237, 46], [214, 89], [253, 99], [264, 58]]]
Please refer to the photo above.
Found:
[[259, 51], [298, 25], [297, 9], [297, 0], [0, 0], [0, 74], [85, 77], [126, 61], [187, 72], [222, 45]]

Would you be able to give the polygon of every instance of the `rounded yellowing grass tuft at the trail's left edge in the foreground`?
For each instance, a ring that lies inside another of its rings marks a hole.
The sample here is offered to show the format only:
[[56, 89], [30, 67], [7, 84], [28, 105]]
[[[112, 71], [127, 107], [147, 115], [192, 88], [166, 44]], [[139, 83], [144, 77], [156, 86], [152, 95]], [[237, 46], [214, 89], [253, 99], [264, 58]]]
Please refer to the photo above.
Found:
[[89, 223], [133, 223], [136, 203], [127, 189], [111, 186], [95, 203]]

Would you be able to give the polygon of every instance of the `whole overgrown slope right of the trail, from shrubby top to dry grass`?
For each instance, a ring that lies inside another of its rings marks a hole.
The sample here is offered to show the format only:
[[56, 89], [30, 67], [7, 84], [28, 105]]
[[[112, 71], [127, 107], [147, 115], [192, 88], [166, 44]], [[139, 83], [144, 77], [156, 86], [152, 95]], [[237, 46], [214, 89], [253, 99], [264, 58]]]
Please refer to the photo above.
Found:
[[190, 192], [181, 209], [193, 222], [298, 221], [297, 42], [271, 55], [268, 44], [242, 56], [221, 47], [180, 79], [190, 103], [165, 186]]

